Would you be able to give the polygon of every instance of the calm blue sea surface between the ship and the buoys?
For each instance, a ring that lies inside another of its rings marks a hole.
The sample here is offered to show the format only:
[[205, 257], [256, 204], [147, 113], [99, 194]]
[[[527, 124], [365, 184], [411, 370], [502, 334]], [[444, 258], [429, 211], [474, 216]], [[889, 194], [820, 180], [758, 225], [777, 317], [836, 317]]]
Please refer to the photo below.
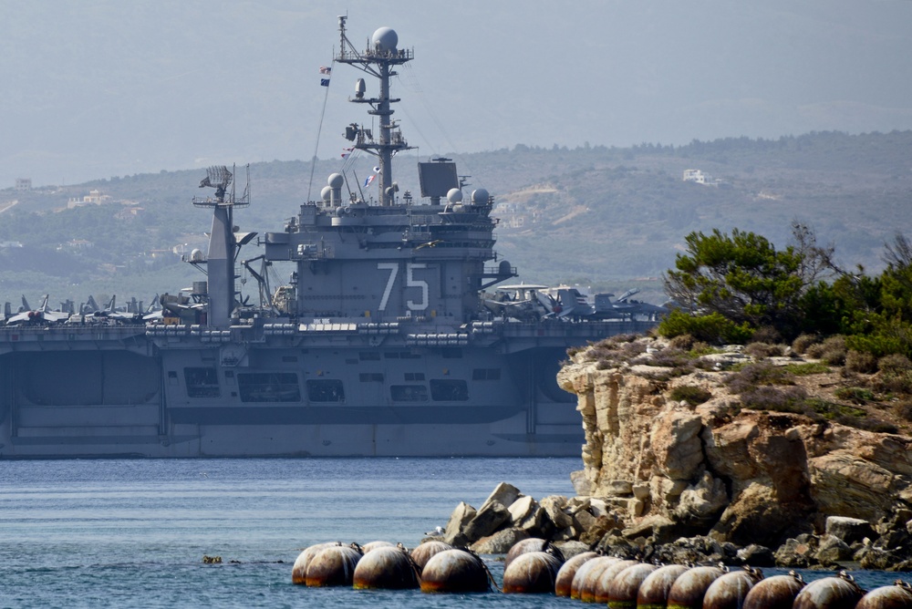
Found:
[[[0, 461], [0, 607], [566, 607], [553, 596], [291, 583], [302, 549], [412, 547], [501, 481], [572, 495], [579, 459]], [[203, 564], [203, 555], [223, 564]], [[489, 567], [498, 580], [502, 563]], [[772, 571], [772, 570], [770, 570]], [[830, 573], [805, 573], [816, 579]], [[891, 573], [856, 573], [865, 587]]]

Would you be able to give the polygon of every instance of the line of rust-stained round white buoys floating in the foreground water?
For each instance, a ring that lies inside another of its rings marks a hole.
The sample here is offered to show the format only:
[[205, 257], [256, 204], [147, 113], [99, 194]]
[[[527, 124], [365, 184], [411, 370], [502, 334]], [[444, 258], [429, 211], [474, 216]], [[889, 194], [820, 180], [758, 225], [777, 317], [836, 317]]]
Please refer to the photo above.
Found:
[[660, 565], [582, 552], [566, 558], [551, 542], [526, 539], [504, 560], [503, 588], [467, 548], [427, 541], [318, 543], [301, 552], [292, 583], [424, 593], [555, 594], [609, 609], [912, 609], [912, 587], [896, 580], [867, 592], [844, 571], [805, 583], [800, 573], [764, 578], [750, 566]]

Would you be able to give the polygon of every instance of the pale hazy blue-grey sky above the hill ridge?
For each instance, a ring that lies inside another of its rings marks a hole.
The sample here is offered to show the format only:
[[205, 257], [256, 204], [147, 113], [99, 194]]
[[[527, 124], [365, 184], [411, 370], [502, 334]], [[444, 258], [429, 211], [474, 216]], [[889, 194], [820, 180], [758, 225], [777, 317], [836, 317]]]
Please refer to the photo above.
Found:
[[[908, 0], [0, 0], [0, 188], [309, 159], [338, 50], [413, 48], [420, 154], [912, 129]], [[318, 155], [365, 120], [337, 66]], [[368, 89], [369, 92], [369, 89]]]

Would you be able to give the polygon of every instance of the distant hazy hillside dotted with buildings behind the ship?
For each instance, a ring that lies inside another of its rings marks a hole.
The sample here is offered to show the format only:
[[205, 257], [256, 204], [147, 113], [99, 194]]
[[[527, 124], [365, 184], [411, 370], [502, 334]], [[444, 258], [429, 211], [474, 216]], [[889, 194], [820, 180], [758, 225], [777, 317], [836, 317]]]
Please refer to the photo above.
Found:
[[[483, 186], [495, 196], [497, 252], [527, 282], [643, 287], [646, 299], [660, 300], [656, 278], [674, 265], [692, 231], [739, 228], [782, 247], [798, 219], [821, 242], [834, 243], [840, 263], [872, 271], [883, 265], [884, 243], [896, 232], [912, 234], [912, 131], [627, 149], [517, 145], [457, 161], [472, 176], [469, 190]], [[253, 203], [235, 222], [245, 231], [282, 230], [308, 190], [316, 198], [336, 168], [330, 160], [316, 168], [302, 161], [251, 165]], [[685, 170], [700, 170], [706, 183], [684, 181]], [[369, 171], [368, 161], [356, 165], [349, 184]], [[236, 172], [243, 189], [244, 170]], [[205, 249], [211, 221], [190, 202], [210, 193], [196, 188], [203, 176], [161, 171], [0, 191], [0, 302], [48, 292], [52, 302], [111, 293], [148, 299], [189, 285], [195, 272], [179, 254]], [[411, 161], [400, 162], [397, 179], [400, 195], [419, 191]], [[109, 199], [67, 209], [90, 191]], [[254, 255], [245, 250], [242, 258]], [[274, 271], [275, 281], [287, 280], [285, 269]]]

